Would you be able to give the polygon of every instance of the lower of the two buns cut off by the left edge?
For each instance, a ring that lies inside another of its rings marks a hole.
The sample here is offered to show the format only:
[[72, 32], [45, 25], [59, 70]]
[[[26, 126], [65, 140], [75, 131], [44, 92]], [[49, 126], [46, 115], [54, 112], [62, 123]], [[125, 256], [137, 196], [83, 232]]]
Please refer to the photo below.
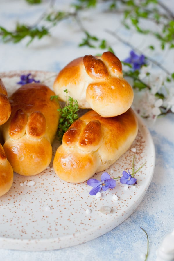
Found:
[[0, 144], [0, 197], [6, 194], [13, 183], [13, 169]]

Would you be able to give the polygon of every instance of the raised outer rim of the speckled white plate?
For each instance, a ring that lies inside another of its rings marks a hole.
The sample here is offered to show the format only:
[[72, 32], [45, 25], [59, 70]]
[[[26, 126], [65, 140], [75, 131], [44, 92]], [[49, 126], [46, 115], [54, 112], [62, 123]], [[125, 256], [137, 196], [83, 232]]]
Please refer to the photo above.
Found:
[[[48, 73], [48, 75], [54, 75], [55, 73], [51, 72], [42, 72], [42, 71], [20, 71], [20, 72], [11, 72], [11, 75], [18, 73], [25, 74], [25, 73]], [[9, 72], [10, 73], [10, 72]], [[1, 75], [7, 75], [9, 73], [0, 73]], [[93, 240], [109, 231], [111, 231], [113, 228], [124, 222], [139, 206], [141, 200], [143, 199], [144, 195], [146, 194], [146, 191], [150, 185], [150, 182], [153, 177], [154, 169], [155, 169], [155, 146], [153, 143], [153, 139], [151, 137], [151, 134], [148, 130], [148, 128], [145, 126], [143, 121], [139, 116], [138, 117], [138, 123], [139, 123], [139, 130], [141, 131], [143, 138], [145, 139], [148, 149], [149, 149], [149, 155], [148, 159], [150, 158], [149, 163], [149, 173], [148, 178], [146, 179], [145, 189], [140, 193], [139, 197], [136, 199], [134, 204], [130, 204], [128, 208], [126, 209], [126, 213], [124, 213], [121, 217], [115, 217], [112, 215], [105, 224], [99, 223], [98, 226], [95, 226], [91, 229], [88, 229], [87, 231], [82, 231], [78, 233], [74, 233], [71, 235], [65, 235], [63, 237], [57, 237], [57, 238], [42, 238], [42, 239], [34, 239], [34, 240], [28, 240], [28, 239], [16, 239], [16, 238], [5, 238], [0, 237], [0, 248], [1, 249], [16, 249], [16, 250], [26, 250], [26, 251], [42, 251], [42, 250], [53, 250], [53, 249], [62, 249], [66, 247], [71, 247], [74, 245], [85, 243], [89, 240]]]

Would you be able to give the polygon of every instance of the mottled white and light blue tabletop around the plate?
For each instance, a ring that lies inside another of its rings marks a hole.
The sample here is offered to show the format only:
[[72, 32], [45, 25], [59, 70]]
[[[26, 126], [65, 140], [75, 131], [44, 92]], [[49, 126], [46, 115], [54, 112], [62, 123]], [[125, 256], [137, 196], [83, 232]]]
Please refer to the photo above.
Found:
[[[68, 1], [57, 1], [57, 3]], [[166, 1], [167, 4], [170, 1]], [[28, 5], [24, 0], [1, 1], [0, 25], [13, 29], [14, 22], [23, 21], [33, 23], [48, 6], [48, 1], [37, 8]], [[60, 4], [60, 9], [63, 5]], [[91, 11], [91, 12], [94, 12]], [[87, 14], [86, 14], [87, 16]], [[111, 16], [98, 14], [98, 28], [87, 21], [86, 26], [94, 35], [101, 35], [108, 39], [116, 55], [120, 59], [128, 56], [129, 48], [108, 35], [104, 29], [115, 30], [116, 20]], [[118, 19], [118, 18], [116, 18]], [[96, 23], [95, 16], [91, 19]], [[100, 22], [102, 21], [102, 22]], [[114, 22], [113, 22], [114, 21]], [[118, 28], [117, 28], [118, 29]], [[118, 29], [124, 35], [123, 28]], [[95, 55], [101, 50], [87, 47], [79, 48], [78, 43], [84, 35], [76, 23], [65, 20], [52, 29], [52, 36], [43, 40], [35, 40], [26, 47], [26, 40], [19, 44], [0, 41], [0, 71], [10, 70], [45, 70], [58, 72], [72, 59], [86, 54]], [[126, 36], [127, 37], [127, 36]], [[136, 36], [137, 37], [137, 36]], [[132, 39], [132, 38], [131, 38]], [[142, 41], [142, 39], [141, 39]], [[146, 41], [148, 41], [146, 37]], [[136, 40], [137, 42], [137, 40]], [[146, 42], [147, 43], [147, 42]], [[157, 55], [157, 54], [156, 54]], [[172, 57], [171, 57], [172, 55]], [[174, 54], [158, 53], [164, 66], [171, 68]], [[168, 58], [171, 59], [168, 59]], [[152, 182], [136, 211], [122, 224], [105, 235], [85, 244], [54, 251], [14, 251], [0, 249], [0, 260], [4, 261], [43, 261], [43, 260], [144, 260], [147, 240], [145, 229], [149, 237], [148, 260], [156, 259], [156, 251], [164, 236], [174, 229], [174, 124], [173, 115], [157, 119], [153, 126], [145, 122], [151, 132], [156, 151], [156, 167]], [[0, 210], [1, 211], [1, 210]], [[0, 215], [2, 213], [0, 212]]]

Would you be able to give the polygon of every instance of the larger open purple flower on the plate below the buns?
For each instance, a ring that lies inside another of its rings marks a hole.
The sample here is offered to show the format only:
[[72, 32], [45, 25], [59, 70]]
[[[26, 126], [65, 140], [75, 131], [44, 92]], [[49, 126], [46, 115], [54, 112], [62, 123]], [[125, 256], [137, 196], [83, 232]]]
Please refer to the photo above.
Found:
[[96, 179], [89, 179], [87, 181], [89, 186], [92, 186], [92, 190], [89, 192], [90, 195], [96, 195], [101, 189], [106, 191], [107, 189], [113, 189], [116, 186], [116, 180], [111, 179], [107, 172], [101, 175], [101, 181]]

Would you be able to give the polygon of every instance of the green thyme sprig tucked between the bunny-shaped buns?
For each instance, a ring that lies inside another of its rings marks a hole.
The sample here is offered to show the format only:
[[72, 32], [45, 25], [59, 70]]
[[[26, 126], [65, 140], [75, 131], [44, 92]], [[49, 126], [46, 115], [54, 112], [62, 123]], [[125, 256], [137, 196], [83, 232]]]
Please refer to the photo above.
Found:
[[[63, 108], [58, 109], [60, 112], [59, 126], [58, 126], [58, 139], [62, 141], [62, 137], [71, 124], [78, 119], [78, 102], [72, 97], [68, 96], [67, 89], [64, 90], [66, 93], [66, 104]], [[58, 96], [51, 96], [51, 99], [58, 98]]]

